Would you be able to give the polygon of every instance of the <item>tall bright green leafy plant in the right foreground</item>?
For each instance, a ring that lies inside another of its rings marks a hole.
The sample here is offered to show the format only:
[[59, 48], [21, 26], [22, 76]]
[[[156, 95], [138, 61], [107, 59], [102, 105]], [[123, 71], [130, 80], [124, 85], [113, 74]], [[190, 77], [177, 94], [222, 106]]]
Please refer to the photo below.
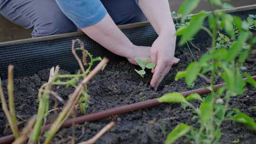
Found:
[[[196, 8], [199, 1], [184, 1], [179, 10], [179, 13], [183, 14], [182, 21]], [[210, 6], [215, 5], [223, 9], [231, 7], [222, 0], [208, 0], [208, 2]], [[209, 21], [209, 28], [203, 26], [205, 20]], [[255, 21], [252, 21], [252, 16], [243, 21], [225, 11], [212, 10], [212, 12], [199, 12], [190, 19], [189, 25], [177, 30], [176, 35], [181, 36], [179, 45], [186, 44], [201, 29], [205, 30], [212, 38], [209, 52], [203, 54], [199, 61], [190, 63], [185, 71], [178, 72], [175, 77], [176, 81], [184, 78], [188, 86], [201, 77], [210, 82], [210, 86], [207, 88], [211, 92], [205, 99], [198, 94], [191, 94], [185, 98], [177, 92], [167, 93], [158, 99], [159, 102], [183, 103], [183, 106], [192, 108], [195, 114], [193, 118], [196, 118], [200, 124], [199, 127], [179, 124], [167, 136], [165, 144], [173, 144], [176, 139], [184, 135], [193, 144], [219, 144], [221, 124], [226, 120], [233, 120], [256, 130], [256, 122], [251, 117], [237, 108], [229, 108], [230, 99], [242, 95], [246, 90], [246, 81], [243, 80], [243, 77], [246, 77], [247, 82], [256, 88], [256, 81], [248, 73], [241, 72], [252, 46], [256, 44], [256, 37], [250, 31], [253, 27], [255, 27]], [[224, 31], [227, 37], [218, 31]], [[224, 40], [223, 43], [217, 40], [218, 34], [221, 40]], [[226, 45], [226, 43], [229, 44]], [[245, 45], [247, 45], [246, 48]], [[218, 90], [214, 89], [216, 77], [220, 77], [226, 82], [226, 85]], [[190, 103], [191, 100], [201, 101], [200, 107], [194, 107]]]

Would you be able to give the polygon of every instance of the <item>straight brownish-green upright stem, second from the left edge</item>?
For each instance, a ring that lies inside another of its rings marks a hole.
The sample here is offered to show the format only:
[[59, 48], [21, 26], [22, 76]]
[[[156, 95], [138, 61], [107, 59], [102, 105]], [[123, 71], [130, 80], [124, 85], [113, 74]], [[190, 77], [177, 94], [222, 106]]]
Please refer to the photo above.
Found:
[[14, 105], [14, 96], [13, 96], [13, 65], [8, 67], [8, 99], [9, 99], [9, 111], [11, 116], [11, 121], [13, 124], [14, 135], [18, 138], [18, 126], [16, 124], [16, 115], [15, 115], [15, 105]]

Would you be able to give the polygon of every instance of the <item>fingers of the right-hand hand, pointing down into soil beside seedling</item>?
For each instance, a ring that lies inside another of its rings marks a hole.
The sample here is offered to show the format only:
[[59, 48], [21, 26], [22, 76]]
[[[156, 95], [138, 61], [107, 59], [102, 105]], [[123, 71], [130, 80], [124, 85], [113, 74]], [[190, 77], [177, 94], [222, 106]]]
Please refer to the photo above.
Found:
[[155, 72], [153, 74], [152, 80], [150, 81], [150, 85], [155, 87], [156, 83], [158, 82], [160, 76], [163, 74], [165, 70], [165, 63], [161, 60], [158, 60], [155, 66]]

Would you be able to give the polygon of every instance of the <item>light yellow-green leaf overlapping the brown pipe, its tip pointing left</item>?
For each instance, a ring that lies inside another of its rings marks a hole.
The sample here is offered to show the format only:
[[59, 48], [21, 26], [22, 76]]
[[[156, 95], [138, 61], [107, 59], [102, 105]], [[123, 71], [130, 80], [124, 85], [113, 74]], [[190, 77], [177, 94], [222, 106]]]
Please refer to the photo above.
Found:
[[159, 102], [170, 102], [170, 103], [186, 103], [184, 96], [178, 92], [166, 93], [162, 97], [157, 99]]

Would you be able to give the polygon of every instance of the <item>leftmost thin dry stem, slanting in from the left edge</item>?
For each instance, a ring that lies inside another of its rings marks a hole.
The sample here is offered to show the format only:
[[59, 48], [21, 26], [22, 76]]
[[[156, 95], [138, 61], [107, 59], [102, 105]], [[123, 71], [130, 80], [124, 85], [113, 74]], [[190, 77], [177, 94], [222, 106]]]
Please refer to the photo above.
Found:
[[16, 125], [16, 124], [13, 124], [13, 122], [12, 122], [11, 115], [9, 113], [9, 109], [7, 107], [6, 100], [4, 98], [1, 79], [0, 79], [0, 99], [1, 99], [1, 105], [2, 105], [3, 111], [5, 113], [5, 116], [7, 117], [11, 131], [12, 131], [13, 135], [15, 136], [15, 138], [17, 139], [19, 135], [18, 135], [18, 132], [15, 131], [14, 125]]

